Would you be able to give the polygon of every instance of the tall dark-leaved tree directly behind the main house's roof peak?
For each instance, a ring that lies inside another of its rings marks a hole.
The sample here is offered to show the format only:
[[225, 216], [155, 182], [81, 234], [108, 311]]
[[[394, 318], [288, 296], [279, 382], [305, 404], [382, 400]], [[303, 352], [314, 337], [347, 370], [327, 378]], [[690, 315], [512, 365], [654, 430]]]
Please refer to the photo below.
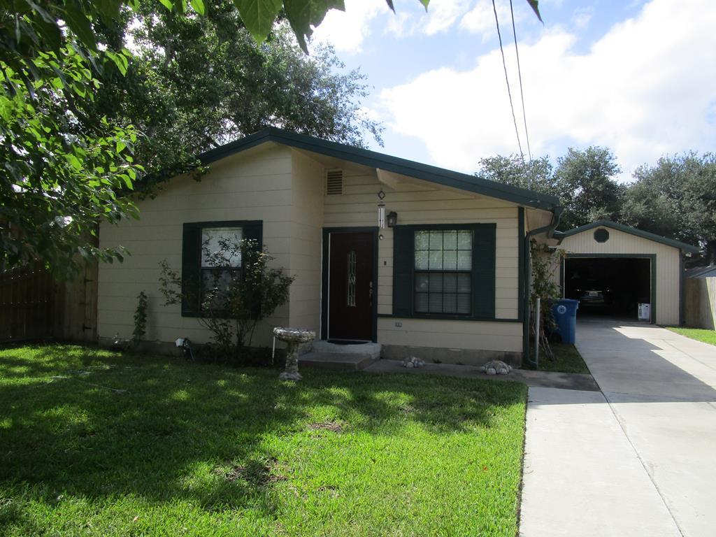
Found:
[[364, 147], [380, 140], [364, 115], [364, 75], [342, 72], [332, 49], [307, 56], [285, 25], [257, 45], [228, 0], [186, 19], [140, 9], [126, 22], [137, 56], [107, 81], [99, 113], [145, 132], [137, 159], [155, 179], [191, 168], [194, 155], [269, 125]]

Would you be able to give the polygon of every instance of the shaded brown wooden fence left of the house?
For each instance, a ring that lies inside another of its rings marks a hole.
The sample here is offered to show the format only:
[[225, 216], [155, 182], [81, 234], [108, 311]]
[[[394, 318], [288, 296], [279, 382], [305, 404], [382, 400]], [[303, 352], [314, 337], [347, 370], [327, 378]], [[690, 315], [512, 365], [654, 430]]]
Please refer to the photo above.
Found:
[[0, 273], [0, 342], [97, 339], [97, 263], [56, 281], [40, 263]]

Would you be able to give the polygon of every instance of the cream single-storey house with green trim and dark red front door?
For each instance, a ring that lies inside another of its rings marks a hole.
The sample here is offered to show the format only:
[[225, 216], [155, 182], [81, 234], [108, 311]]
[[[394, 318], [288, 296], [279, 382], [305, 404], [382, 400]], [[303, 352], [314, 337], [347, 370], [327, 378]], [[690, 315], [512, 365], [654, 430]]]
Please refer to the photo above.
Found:
[[[200, 181], [173, 178], [137, 201], [139, 221], [102, 224], [100, 246], [131, 255], [100, 266], [100, 342], [130, 337], [142, 290], [145, 339], [208, 341], [198, 304], [163, 305], [159, 263], [200, 285], [202, 241], [230, 235], [256, 238], [296, 276], [253, 344], [293, 326], [378, 342], [384, 357], [521, 362], [526, 248], [553, 231], [556, 198], [276, 128], [200, 159]], [[379, 226], [383, 213], [395, 226]]]

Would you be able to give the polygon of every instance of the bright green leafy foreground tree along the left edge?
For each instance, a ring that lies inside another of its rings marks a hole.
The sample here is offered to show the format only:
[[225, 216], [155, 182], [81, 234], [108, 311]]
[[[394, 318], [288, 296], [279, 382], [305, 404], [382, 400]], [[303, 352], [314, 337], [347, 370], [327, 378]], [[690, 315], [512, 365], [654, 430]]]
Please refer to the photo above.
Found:
[[97, 222], [136, 216], [118, 193], [142, 168], [137, 133], [105, 117], [88, 120], [104, 69], [123, 54], [100, 54], [92, 22], [109, 23], [111, 1], [4, 1], [0, 4], [0, 268], [42, 259], [71, 273], [77, 258], [122, 259], [95, 246]]

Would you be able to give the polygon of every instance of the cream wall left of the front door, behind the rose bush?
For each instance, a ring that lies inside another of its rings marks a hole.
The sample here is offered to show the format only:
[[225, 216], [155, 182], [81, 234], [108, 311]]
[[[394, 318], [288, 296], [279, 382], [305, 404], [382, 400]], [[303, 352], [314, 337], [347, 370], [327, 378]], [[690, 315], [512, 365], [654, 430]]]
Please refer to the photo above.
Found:
[[[100, 264], [98, 291], [99, 337], [131, 337], [137, 294], [149, 297], [147, 341], [173, 342], [189, 337], [206, 342], [211, 333], [198, 320], [181, 316], [180, 306], [163, 306], [158, 263], [166, 259], [181, 270], [183, 223], [261, 220], [263, 243], [274, 266], [291, 269], [291, 150], [265, 144], [211, 165], [200, 182], [188, 177], [169, 181], [154, 199], [137, 202], [139, 221], [100, 227], [100, 246], [125, 246], [124, 263]], [[270, 320], [289, 322], [288, 306]], [[255, 344], [269, 344], [269, 324], [258, 327]]]

